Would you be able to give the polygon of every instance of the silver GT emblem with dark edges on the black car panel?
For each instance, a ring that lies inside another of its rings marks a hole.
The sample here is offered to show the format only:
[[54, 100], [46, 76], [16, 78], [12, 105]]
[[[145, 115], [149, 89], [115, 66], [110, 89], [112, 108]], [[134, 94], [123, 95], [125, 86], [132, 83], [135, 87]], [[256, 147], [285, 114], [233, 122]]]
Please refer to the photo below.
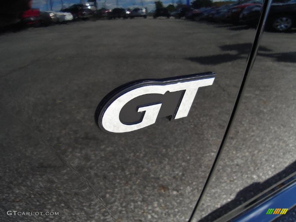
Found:
[[154, 124], [157, 118], [186, 117], [199, 87], [210, 86], [215, 73], [138, 80], [110, 92], [95, 112], [104, 131], [124, 133]]

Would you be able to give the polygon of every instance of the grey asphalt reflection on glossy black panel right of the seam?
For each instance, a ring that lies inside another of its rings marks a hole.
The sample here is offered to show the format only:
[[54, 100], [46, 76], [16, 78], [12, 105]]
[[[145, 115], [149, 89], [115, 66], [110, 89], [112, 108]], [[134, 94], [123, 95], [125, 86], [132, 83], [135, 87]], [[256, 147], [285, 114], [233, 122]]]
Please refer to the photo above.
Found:
[[[269, 17], [267, 23], [268, 20]], [[285, 36], [270, 31], [263, 33], [254, 67], [250, 70], [228, 137], [230, 142], [226, 142], [227, 145], [219, 157], [218, 169], [215, 170], [209, 191], [205, 195], [207, 197], [199, 208], [200, 211], [207, 210], [208, 207], [211, 210], [196, 215], [193, 221], [219, 221], [219, 218], [221, 221], [227, 221], [229, 218], [224, 218], [223, 215], [228, 212], [234, 213], [232, 216], [241, 213], [244, 204], [250, 199], [296, 171], [295, 158], [290, 156], [293, 148], [289, 149], [294, 147], [294, 139], [293, 136], [285, 135], [287, 131], [295, 131], [295, 113], [292, 111], [295, 84], [291, 82], [294, 79], [291, 71], [294, 69], [295, 52], [289, 48], [292, 33], [288, 32]], [[266, 67], [267, 64], [271, 67]], [[268, 130], [278, 126], [282, 130]], [[249, 131], [250, 129], [252, 131]], [[274, 156], [273, 152], [268, 153], [273, 147], [284, 150], [285, 154], [281, 151]], [[226, 173], [229, 168], [232, 168], [231, 173]], [[269, 172], [272, 176], [267, 176], [261, 173], [262, 171]], [[224, 205], [213, 207], [215, 204], [211, 204], [211, 191], [216, 187], [220, 187], [222, 191], [219, 195], [214, 194], [215, 198], [223, 199], [226, 196], [229, 199], [227, 203], [224, 201]], [[239, 192], [234, 195], [233, 190], [238, 187]], [[236, 211], [232, 212], [235, 208]], [[286, 219], [285, 217], [286, 215], [283, 215], [277, 220], [294, 220], [293, 216]]]

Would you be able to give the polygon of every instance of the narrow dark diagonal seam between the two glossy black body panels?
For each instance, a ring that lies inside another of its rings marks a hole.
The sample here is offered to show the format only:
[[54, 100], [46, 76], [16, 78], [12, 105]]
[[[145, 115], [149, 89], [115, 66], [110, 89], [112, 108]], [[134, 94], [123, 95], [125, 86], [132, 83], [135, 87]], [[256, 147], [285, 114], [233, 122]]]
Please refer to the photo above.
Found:
[[223, 150], [223, 148], [224, 148], [224, 146], [226, 144], [226, 139], [229, 136], [230, 129], [232, 127], [232, 124], [234, 122], [234, 118], [236, 116], [237, 108], [238, 108], [238, 106], [239, 106], [239, 104], [241, 102], [242, 94], [244, 93], [244, 88], [245, 88], [244, 86], [246, 84], [247, 77], [250, 74], [250, 71], [251, 71], [251, 69], [252, 69], [252, 67], [254, 65], [254, 62], [255, 62], [256, 54], [258, 52], [260, 39], [261, 39], [263, 30], [264, 30], [264, 27], [265, 27], [265, 23], [266, 23], [268, 12], [269, 12], [269, 9], [270, 9], [270, 6], [271, 6], [271, 2], [272, 2], [272, 0], [265, 0], [264, 3], [263, 3], [262, 12], [261, 12], [261, 15], [260, 15], [260, 20], [258, 22], [258, 27], [257, 27], [257, 30], [256, 30], [254, 42], [253, 42], [252, 49], [251, 49], [251, 52], [250, 52], [248, 60], [247, 60], [247, 66], [246, 66], [246, 69], [245, 69], [245, 72], [244, 72], [244, 76], [242, 78], [242, 83], [241, 83], [239, 91], [237, 93], [237, 98], [235, 100], [233, 110], [231, 112], [231, 115], [230, 115], [226, 130], [225, 130], [223, 139], [222, 139], [220, 147], [219, 147], [219, 149], [217, 151], [217, 154], [216, 154], [215, 160], [213, 162], [212, 168], [210, 170], [210, 173], [207, 176], [207, 180], [205, 181], [205, 184], [204, 184], [204, 186], [202, 188], [200, 196], [199, 196], [199, 198], [197, 200], [197, 203], [196, 203], [196, 205], [194, 207], [194, 210], [193, 210], [188, 222], [191, 222], [194, 219], [197, 212], [198, 212], [197, 208], [200, 206], [200, 203], [201, 203], [201, 201], [202, 201], [202, 199], [203, 199], [203, 197], [205, 195], [205, 192], [207, 191], [207, 187], [209, 185], [209, 182], [213, 178], [213, 172], [215, 171], [215, 168], [217, 166], [217, 163], [218, 163], [218, 160], [220, 158], [221, 152], [222, 152], [222, 150]]

